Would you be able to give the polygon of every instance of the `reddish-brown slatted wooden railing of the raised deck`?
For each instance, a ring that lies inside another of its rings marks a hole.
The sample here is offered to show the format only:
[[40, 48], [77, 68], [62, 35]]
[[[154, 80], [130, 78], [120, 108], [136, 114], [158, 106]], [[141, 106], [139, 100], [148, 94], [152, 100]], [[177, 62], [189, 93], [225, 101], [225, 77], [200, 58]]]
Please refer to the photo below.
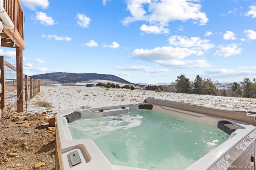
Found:
[[11, 18], [15, 28], [24, 39], [24, 12], [19, 0], [4, 0], [4, 9]]

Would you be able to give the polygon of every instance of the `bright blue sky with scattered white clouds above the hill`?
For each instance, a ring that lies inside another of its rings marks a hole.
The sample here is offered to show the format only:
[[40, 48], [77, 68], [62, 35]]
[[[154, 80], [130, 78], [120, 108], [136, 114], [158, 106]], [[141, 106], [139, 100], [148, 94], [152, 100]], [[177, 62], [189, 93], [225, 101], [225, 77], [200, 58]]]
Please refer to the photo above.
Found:
[[[20, 0], [24, 74], [171, 83], [256, 78], [255, 0]], [[16, 49], [0, 55], [15, 57]]]

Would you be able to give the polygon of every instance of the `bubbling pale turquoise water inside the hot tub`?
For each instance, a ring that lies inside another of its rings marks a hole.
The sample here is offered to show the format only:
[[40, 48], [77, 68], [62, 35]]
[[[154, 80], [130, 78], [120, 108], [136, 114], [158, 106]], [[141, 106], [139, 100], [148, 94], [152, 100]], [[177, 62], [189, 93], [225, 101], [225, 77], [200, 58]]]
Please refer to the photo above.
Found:
[[145, 169], [185, 169], [229, 137], [216, 127], [144, 110], [68, 127], [73, 139], [94, 140], [111, 164]]

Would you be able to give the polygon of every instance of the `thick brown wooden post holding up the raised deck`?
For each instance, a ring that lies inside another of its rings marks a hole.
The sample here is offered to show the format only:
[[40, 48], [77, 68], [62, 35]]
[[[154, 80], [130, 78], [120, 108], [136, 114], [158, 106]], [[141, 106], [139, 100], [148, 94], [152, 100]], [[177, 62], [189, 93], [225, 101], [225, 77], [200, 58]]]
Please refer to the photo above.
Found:
[[23, 112], [23, 49], [16, 47], [17, 112]]

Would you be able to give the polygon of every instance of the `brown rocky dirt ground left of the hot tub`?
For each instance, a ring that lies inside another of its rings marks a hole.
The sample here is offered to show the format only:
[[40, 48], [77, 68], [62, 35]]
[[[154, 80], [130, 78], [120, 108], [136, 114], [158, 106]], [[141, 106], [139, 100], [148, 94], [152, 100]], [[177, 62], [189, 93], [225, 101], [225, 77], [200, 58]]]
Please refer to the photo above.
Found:
[[1, 118], [1, 170], [55, 169], [55, 127], [46, 114], [7, 111]]

